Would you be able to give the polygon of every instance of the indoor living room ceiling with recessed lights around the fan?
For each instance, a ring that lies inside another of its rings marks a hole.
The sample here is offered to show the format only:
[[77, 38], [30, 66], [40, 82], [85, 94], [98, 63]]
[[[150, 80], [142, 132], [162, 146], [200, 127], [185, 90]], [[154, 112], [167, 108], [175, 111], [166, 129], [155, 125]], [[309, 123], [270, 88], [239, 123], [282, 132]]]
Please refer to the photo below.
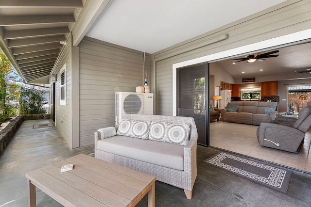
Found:
[[[234, 78], [249, 78], [267, 75], [273, 76], [274, 80], [311, 78], [310, 73], [295, 73], [295, 71], [307, 71], [307, 68], [311, 68], [311, 43], [262, 51], [259, 54], [264, 54], [266, 52], [275, 50], [279, 50], [279, 52], [275, 53], [275, 55], [278, 55], [277, 57], [265, 58], [265, 60], [262, 62], [255, 61], [254, 63], [248, 63], [247, 61], [242, 61], [236, 64], [232, 64], [236, 61], [230, 59], [212, 64], [218, 64]], [[237, 58], [242, 58], [245, 56], [240, 56]], [[282, 77], [280, 74], [283, 74]]]

